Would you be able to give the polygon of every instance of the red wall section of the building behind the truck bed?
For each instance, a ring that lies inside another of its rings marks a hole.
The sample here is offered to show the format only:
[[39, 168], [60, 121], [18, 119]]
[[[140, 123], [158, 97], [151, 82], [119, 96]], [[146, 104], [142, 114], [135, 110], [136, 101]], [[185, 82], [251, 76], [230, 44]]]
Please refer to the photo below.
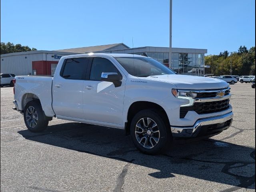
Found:
[[32, 61], [32, 69], [37, 75], [51, 75], [51, 64], [58, 64], [58, 61]]

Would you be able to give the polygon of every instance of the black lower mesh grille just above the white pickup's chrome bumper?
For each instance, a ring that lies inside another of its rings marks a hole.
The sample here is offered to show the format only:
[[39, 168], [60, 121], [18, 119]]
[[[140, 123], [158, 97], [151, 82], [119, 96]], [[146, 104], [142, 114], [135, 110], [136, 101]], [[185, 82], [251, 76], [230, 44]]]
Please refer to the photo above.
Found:
[[195, 111], [197, 114], [208, 114], [224, 111], [229, 108], [229, 99], [212, 102], [196, 102], [193, 106], [180, 107], [180, 118], [184, 118], [188, 111]]

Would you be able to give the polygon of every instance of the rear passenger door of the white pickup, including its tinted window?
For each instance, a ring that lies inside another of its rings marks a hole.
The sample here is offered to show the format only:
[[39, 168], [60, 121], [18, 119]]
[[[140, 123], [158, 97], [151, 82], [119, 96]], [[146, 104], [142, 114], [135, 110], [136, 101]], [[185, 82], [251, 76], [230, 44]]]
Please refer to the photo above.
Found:
[[60, 75], [54, 76], [52, 106], [57, 117], [83, 118], [83, 84], [88, 58], [64, 60]]

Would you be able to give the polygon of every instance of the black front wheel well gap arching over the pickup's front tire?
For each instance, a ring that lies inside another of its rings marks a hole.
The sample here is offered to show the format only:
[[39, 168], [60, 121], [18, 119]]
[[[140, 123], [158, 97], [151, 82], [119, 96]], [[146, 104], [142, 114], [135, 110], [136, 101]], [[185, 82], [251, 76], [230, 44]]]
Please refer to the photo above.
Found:
[[127, 120], [126, 120], [125, 128], [124, 128], [126, 135], [130, 134], [130, 123], [131, 123], [134, 115], [137, 114], [139, 111], [145, 110], [145, 109], [158, 110], [161, 113], [163, 120], [168, 124], [167, 126], [170, 126], [170, 122], [169, 122], [167, 113], [162, 106], [160, 106], [159, 104], [156, 104], [154, 102], [149, 102], [149, 101], [136, 101], [136, 102], [133, 102], [128, 109]]

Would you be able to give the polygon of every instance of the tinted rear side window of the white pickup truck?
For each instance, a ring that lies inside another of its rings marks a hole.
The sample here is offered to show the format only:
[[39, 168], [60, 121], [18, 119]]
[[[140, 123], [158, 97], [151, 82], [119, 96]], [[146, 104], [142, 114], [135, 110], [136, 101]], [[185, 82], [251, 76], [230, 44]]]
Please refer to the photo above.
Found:
[[88, 58], [70, 58], [67, 59], [61, 76], [66, 79], [85, 80]]

